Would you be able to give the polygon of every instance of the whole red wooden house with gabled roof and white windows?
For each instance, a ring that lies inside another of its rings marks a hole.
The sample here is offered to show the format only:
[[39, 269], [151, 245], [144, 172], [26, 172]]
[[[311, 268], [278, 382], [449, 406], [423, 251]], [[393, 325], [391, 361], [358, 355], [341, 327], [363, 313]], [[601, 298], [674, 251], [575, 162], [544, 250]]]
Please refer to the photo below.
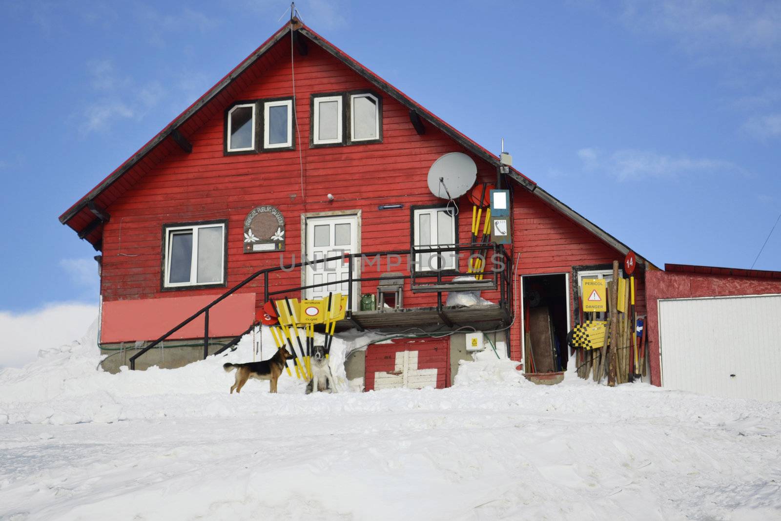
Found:
[[[512, 243], [478, 248], [498, 255], [482, 280], [454, 281], [468, 268], [457, 254], [476, 251], [473, 203], [438, 198], [426, 184], [433, 163], [452, 152], [474, 162], [478, 187], [511, 194]], [[538, 369], [562, 369], [566, 331], [581, 316], [580, 278], [609, 277], [629, 251], [295, 19], [60, 220], [102, 254], [107, 369], [130, 358], [139, 369], [181, 365], [231, 344], [269, 299], [342, 291], [350, 299], [338, 328], [402, 337], [369, 348], [367, 384], [419, 370], [449, 385], [468, 330], [487, 332], [502, 355], [522, 361], [524, 309], [540, 306], [555, 352]], [[442, 252], [433, 266], [415, 263], [433, 250]], [[380, 266], [361, 257], [375, 252]], [[302, 255], [333, 259], [298, 266]], [[650, 265], [637, 260], [642, 308]], [[361, 310], [361, 296], [376, 294], [386, 272], [401, 281], [401, 299]], [[447, 304], [465, 290], [490, 303]], [[155, 344], [164, 349], [143, 351], [199, 310]]]

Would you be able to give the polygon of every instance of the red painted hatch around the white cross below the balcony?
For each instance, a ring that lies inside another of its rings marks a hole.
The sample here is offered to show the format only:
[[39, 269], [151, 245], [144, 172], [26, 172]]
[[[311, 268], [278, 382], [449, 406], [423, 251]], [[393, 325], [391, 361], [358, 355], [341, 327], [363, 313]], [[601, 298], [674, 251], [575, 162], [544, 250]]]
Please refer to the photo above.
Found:
[[437, 369], [437, 389], [450, 387], [450, 341], [447, 338], [396, 339], [392, 344], [371, 344], [366, 348], [366, 391], [374, 389], [374, 373], [391, 372], [396, 353], [418, 351], [418, 369]]

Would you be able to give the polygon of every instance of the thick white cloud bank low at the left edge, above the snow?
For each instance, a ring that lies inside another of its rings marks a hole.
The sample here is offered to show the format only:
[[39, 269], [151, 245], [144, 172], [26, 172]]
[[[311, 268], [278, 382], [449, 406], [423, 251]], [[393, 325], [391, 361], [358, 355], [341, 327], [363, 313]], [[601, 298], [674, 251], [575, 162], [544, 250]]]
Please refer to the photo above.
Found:
[[97, 305], [71, 302], [23, 313], [0, 311], [0, 367], [21, 367], [36, 359], [41, 349], [79, 340], [97, 316]]

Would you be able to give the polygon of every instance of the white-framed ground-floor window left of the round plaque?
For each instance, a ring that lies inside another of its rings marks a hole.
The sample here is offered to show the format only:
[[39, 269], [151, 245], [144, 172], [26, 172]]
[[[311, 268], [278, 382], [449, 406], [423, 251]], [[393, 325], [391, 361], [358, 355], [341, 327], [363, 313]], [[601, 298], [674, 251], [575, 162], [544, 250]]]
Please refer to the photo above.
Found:
[[225, 223], [166, 227], [165, 287], [223, 284]]

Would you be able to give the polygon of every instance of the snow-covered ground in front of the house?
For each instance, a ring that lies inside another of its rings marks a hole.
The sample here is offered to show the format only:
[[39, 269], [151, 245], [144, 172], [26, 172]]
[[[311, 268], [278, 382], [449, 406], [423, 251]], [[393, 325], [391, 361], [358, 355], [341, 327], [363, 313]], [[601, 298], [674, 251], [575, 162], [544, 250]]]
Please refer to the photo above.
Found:
[[228, 394], [226, 361], [0, 371], [0, 519], [781, 519], [781, 404], [507, 361], [446, 390]]

